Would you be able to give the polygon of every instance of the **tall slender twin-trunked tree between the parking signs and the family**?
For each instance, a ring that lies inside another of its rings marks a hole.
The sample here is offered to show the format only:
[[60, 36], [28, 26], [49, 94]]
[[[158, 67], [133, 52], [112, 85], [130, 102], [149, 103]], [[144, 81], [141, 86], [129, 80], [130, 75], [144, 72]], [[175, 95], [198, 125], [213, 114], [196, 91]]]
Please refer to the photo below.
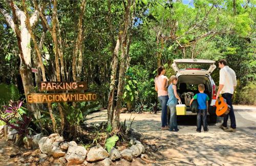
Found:
[[[113, 122], [115, 127], [119, 127], [119, 116], [120, 116], [120, 109], [122, 104], [122, 94], [123, 94], [123, 85], [124, 85], [124, 74], [126, 72], [126, 64], [127, 64], [127, 44], [128, 41], [128, 30], [129, 25], [131, 23], [131, 6], [134, 7], [135, 1], [128, 0], [127, 2], [123, 1], [124, 6], [124, 16], [123, 22], [120, 25], [118, 39], [116, 41], [116, 47], [114, 50], [114, 56], [112, 61], [112, 72], [111, 72], [111, 85], [110, 85], [110, 95], [109, 95], [109, 105], [108, 105], [108, 125], [112, 125]], [[115, 86], [115, 77], [117, 73], [117, 65], [118, 65], [118, 57], [119, 57], [119, 49], [121, 43], [121, 56], [119, 62], [119, 78], [118, 78], [118, 89], [117, 89], [117, 107], [116, 111], [113, 114], [113, 99], [114, 99], [114, 86]], [[113, 117], [115, 116], [115, 117]]]

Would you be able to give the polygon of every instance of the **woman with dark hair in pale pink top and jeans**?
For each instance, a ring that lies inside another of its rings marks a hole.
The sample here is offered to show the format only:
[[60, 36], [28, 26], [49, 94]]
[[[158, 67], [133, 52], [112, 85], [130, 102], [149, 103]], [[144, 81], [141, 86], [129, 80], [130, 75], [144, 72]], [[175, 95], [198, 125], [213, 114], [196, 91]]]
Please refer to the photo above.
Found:
[[162, 106], [161, 121], [162, 127], [161, 130], [168, 130], [167, 126], [167, 101], [168, 101], [168, 78], [164, 75], [165, 69], [163, 66], [159, 66], [157, 69], [157, 77], [155, 78], [155, 89], [157, 91], [158, 101]]

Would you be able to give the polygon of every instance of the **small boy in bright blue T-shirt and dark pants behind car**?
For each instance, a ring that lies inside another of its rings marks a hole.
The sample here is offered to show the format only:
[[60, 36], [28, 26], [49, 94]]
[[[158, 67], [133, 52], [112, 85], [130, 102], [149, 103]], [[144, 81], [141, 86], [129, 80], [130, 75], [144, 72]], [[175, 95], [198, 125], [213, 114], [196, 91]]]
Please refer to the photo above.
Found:
[[208, 100], [209, 97], [204, 93], [204, 85], [199, 84], [198, 90], [200, 93], [196, 94], [193, 99], [190, 100], [190, 105], [193, 102], [193, 100], [197, 99], [198, 102], [198, 112], [197, 112], [197, 132], [201, 132], [201, 123], [202, 123], [202, 114], [203, 114], [203, 128], [204, 131], [208, 131], [207, 127], [207, 111], [208, 111]]

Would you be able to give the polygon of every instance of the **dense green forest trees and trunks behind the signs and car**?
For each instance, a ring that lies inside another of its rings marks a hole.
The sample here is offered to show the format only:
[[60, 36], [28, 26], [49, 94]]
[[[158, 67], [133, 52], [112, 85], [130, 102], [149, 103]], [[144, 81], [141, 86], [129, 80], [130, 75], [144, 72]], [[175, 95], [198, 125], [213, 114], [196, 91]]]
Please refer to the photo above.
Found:
[[[123, 104], [136, 112], [157, 109], [158, 66], [166, 66], [170, 76], [174, 59], [226, 59], [239, 80], [236, 103], [255, 104], [244, 97], [248, 89], [255, 92], [255, 5], [249, 0], [0, 2], [0, 83], [16, 85], [26, 99], [40, 81], [86, 81], [98, 104], [108, 108], [112, 125]], [[218, 85], [218, 69], [212, 77]], [[40, 110], [49, 111], [61, 130], [69, 114], [62, 104], [28, 108], [38, 117]]]

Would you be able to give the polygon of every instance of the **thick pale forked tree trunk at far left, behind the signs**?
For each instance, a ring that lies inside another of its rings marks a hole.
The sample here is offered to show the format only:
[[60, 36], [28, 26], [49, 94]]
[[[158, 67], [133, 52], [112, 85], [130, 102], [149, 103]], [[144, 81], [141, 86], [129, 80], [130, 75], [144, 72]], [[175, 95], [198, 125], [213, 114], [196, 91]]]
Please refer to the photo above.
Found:
[[[13, 1], [9, 1], [9, 5], [12, 9], [12, 17], [6, 12], [5, 9], [0, 6], [1, 13], [5, 16], [7, 23], [11, 26], [13, 32], [16, 34], [17, 44], [19, 48], [19, 57], [20, 57], [20, 67], [19, 73], [22, 77], [23, 87], [25, 92], [25, 97], [27, 100], [29, 93], [34, 93], [34, 81], [31, 71], [31, 48], [30, 39], [31, 36], [26, 27], [26, 16], [23, 11], [21, 11], [16, 5], [13, 4]], [[20, 20], [20, 24], [17, 24], [17, 17]], [[33, 26], [37, 22], [38, 11], [35, 11], [33, 16], [30, 19], [30, 23]], [[20, 31], [21, 30], [21, 31]], [[28, 104], [28, 109], [34, 113], [36, 119], [39, 119], [40, 111], [36, 104]]]

